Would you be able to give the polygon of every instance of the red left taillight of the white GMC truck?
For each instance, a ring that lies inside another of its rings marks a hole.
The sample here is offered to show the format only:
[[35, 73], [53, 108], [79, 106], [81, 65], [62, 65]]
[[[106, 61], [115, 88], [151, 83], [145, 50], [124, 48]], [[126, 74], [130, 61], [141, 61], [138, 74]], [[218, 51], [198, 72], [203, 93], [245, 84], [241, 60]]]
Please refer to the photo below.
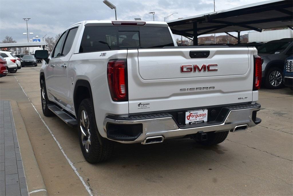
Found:
[[109, 60], [107, 67], [108, 85], [113, 101], [127, 101], [127, 61]]

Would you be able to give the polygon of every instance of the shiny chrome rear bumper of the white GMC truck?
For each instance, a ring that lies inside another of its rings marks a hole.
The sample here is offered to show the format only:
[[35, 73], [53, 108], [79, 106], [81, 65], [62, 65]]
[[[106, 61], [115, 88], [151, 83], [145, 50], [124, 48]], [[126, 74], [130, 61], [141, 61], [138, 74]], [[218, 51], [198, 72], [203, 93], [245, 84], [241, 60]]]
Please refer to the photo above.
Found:
[[[121, 124], [132, 125], [142, 124], [142, 134], [134, 141], [118, 141], [120, 143], [146, 143], [146, 139], [155, 136], [163, 136], [164, 139], [168, 138], [180, 138], [189, 134], [196, 134], [198, 131], [203, 132], [221, 132], [221, 131], [235, 131], [235, 128], [239, 126], [253, 127], [255, 122], [253, 121], [253, 111], [260, 110], [260, 104], [251, 104], [250, 108], [244, 109], [231, 109], [225, 118], [225, 120], [216, 125], [200, 126], [193, 128], [180, 129], [178, 124], [172, 117], [162, 117], [153, 119], [142, 120], [117, 120], [106, 117], [104, 120], [104, 131], [107, 135], [107, 124]], [[238, 107], [239, 108], [239, 107]], [[260, 119], [259, 119], [260, 120]], [[258, 124], [258, 123], [257, 123]], [[243, 129], [246, 130], [246, 129]], [[241, 130], [240, 130], [241, 131]], [[114, 140], [114, 139], [112, 139]]]

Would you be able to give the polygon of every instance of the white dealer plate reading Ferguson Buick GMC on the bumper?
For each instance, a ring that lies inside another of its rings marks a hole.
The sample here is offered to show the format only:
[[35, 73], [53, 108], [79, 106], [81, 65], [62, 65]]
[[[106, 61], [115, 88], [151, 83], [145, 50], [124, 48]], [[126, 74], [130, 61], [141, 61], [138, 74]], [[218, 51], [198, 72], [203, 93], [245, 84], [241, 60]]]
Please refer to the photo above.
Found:
[[207, 109], [196, 109], [185, 112], [185, 124], [207, 122]]

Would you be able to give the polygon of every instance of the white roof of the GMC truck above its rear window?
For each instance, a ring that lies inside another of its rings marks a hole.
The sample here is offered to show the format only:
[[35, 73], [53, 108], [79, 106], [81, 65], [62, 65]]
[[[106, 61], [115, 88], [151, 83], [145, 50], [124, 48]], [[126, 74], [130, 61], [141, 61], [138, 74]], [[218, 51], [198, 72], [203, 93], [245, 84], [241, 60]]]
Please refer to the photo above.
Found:
[[[128, 21], [128, 20], [117, 20], [117, 21], [112, 21], [112, 20], [90, 20], [90, 21], [80, 21], [78, 23], [75, 23], [71, 26], [77, 25], [77, 24], [82, 24], [83, 26], [93, 26], [93, 25], [98, 25], [98, 24], [111, 24], [114, 26], [113, 23], [122, 23], [123, 26], [134, 26], [134, 25], [127, 25], [127, 23], [137, 23], [137, 26], [156, 26], [156, 27], [168, 27], [168, 24], [163, 21]], [[123, 24], [125, 23], [125, 24]], [[142, 25], [144, 23], [145, 25]], [[69, 26], [69, 27], [71, 27]], [[69, 28], [68, 27], [68, 28]]]

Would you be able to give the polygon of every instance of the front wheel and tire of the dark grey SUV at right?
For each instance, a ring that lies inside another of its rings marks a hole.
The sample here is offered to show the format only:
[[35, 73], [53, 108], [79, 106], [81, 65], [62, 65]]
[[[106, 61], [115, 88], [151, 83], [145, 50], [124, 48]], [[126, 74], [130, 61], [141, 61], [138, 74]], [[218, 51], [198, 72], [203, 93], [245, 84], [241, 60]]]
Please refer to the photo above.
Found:
[[265, 87], [268, 89], [279, 89], [283, 87], [283, 70], [272, 67], [265, 77]]

